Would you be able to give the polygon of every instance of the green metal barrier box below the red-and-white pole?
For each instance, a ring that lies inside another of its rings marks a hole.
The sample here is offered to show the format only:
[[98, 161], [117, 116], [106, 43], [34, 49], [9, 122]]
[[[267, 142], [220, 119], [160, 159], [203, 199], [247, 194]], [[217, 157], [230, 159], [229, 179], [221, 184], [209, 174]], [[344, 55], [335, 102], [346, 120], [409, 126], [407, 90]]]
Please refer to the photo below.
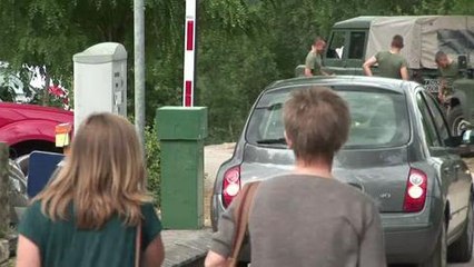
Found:
[[156, 122], [161, 148], [164, 228], [199, 229], [204, 226], [207, 108], [159, 108]]

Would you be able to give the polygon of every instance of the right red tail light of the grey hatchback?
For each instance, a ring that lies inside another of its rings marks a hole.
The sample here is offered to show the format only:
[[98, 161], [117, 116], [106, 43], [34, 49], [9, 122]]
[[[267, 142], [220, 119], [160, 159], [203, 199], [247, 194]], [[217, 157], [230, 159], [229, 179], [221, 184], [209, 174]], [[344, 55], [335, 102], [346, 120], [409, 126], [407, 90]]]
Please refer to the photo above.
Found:
[[405, 201], [403, 210], [405, 212], [418, 212], [425, 207], [426, 189], [428, 178], [425, 172], [418, 169], [411, 169], [408, 181], [406, 182]]

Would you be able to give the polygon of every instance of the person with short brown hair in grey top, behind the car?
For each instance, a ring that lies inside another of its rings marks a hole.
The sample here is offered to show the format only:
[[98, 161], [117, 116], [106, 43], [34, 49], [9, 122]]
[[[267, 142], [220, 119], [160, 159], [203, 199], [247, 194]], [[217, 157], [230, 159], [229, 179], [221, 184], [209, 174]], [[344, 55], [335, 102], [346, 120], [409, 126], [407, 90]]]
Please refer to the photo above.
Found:
[[[261, 181], [255, 191], [251, 266], [386, 266], [377, 208], [332, 175], [333, 158], [348, 138], [346, 102], [328, 88], [300, 89], [285, 103], [283, 118], [295, 169]], [[241, 196], [220, 218], [205, 266], [226, 266]]]

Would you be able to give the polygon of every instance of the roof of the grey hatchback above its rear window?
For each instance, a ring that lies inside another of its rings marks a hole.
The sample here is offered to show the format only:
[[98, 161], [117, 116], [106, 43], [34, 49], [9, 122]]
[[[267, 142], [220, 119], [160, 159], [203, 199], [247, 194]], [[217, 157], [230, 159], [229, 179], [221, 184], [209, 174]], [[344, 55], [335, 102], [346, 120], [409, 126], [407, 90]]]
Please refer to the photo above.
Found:
[[275, 81], [268, 86], [265, 91], [276, 91], [289, 87], [304, 86], [369, 86], [382, 90], [398, 92], [405, 95], [411, 88], [419, 86], [414, 81], [404, 81], [397, 79], [366, 76], [316, 76], [316, 77], [299, 77], [287, 80]]

